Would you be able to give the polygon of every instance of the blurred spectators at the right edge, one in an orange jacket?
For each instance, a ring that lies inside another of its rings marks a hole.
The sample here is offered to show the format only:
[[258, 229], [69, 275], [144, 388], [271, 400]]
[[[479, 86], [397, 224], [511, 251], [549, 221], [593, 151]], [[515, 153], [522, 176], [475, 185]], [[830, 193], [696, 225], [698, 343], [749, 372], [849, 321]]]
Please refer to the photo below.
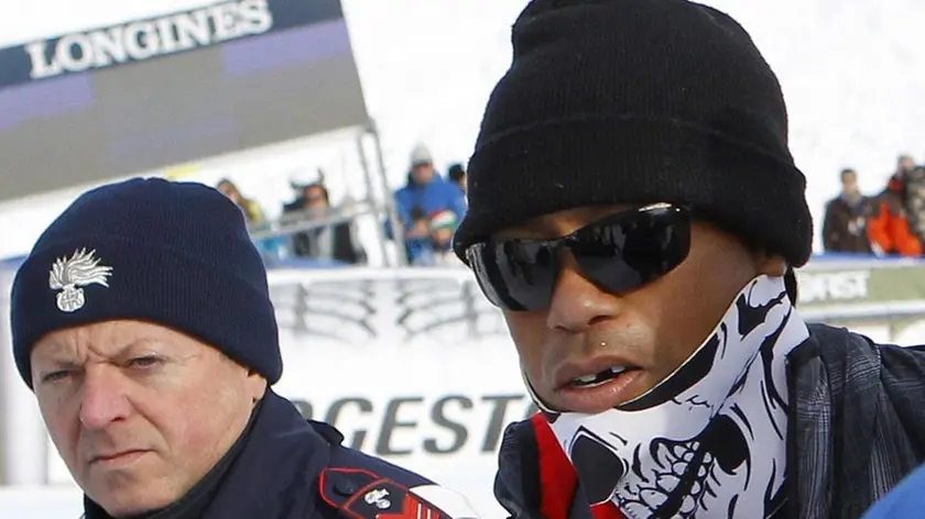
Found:
[[886, 186], [864, 195], [858, 172], [841, 170], [841, 192], [826, 203], [826, 253], [922, 256], [925, 243], [925, 166], [901, 155]]

